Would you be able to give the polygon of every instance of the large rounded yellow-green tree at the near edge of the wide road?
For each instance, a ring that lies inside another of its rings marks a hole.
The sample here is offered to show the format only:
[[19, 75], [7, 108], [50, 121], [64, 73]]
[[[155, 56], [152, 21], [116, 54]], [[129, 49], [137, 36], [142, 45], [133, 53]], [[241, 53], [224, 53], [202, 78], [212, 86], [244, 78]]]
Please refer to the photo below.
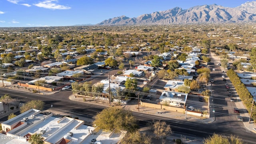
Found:
[[137, 130], [136, 119], [130, 111], [120, 108], [106, 108], [95, 116], [93, 122], [98, 128], [104, 130], [126, 130], [133, 132]]

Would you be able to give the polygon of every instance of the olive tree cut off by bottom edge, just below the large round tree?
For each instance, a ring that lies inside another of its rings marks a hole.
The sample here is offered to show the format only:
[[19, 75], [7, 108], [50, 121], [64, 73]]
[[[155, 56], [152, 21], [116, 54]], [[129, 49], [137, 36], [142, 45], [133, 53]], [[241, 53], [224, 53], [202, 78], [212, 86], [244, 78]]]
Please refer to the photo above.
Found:
[[140, 130], [128, 132], [121, 141], [121, 144], [151, 144], [152, 137], [147, 136], [145, 132], [140, 133]]

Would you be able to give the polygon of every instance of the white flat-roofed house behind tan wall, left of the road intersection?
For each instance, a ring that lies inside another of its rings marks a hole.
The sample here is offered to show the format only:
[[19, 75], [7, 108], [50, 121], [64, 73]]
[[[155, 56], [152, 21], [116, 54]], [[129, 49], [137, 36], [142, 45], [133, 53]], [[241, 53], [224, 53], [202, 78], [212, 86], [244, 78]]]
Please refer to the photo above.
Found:
[[163, 91], [159, 97], [160, 104], [168, 104], [170, 106], [184, 107], [188, 94], [172, 91]]

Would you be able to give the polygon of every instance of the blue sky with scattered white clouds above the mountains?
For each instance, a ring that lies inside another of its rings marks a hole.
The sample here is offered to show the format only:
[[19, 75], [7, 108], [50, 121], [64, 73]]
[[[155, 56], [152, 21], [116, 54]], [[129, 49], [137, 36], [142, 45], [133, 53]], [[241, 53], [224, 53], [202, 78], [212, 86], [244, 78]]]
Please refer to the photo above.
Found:
[[237, 7], [252, 0], [0, 0], [0, 27], [98, 24], [118, 16], [217, 4]]

